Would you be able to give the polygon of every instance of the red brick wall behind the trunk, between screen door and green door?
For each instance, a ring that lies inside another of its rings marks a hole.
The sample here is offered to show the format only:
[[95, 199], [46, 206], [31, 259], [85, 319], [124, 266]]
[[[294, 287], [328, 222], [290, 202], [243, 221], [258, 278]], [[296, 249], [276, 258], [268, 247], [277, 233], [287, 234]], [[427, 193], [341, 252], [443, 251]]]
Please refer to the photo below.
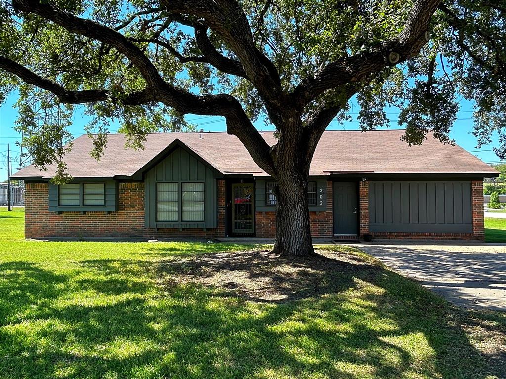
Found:
[[[332, 237], [332, 182], [327, 182], [327, 208], [325, 212], [310, 212], [311, 235], [315, 238]], [[276, 213], [257, 212], [255, 214], [257, 237], [274, 238], [276, 236]]]

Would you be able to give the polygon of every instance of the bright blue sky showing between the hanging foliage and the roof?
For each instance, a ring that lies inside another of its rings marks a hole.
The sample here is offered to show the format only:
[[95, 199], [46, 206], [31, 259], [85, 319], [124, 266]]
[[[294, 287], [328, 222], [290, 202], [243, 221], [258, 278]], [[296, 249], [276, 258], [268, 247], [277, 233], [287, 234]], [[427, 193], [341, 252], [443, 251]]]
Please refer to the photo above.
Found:
[[[0, 182], [7, 180], [7, 143], [10, 143], [10, 151], [13, 159], [18, 158], [19, 161], [20, 148], [16, 145], [16, 141], [20, 141], [21, 136], [13, 129], [17, 118], [17, 111], [13, 108], [16, 100], [17, 95], [13, 93], [7, 99], [5, 104], [0, 107]], [[358, 110], [359, 107], [355, 103], [351, 110], [354, 121], [345, 123], [344, 128], [346, 130], [359, 129], [358, 121], [356, 120]], [[491, 149], [494, 146], [497, 146], [497, 138], [494, 138], [491, 144], [481, 147], [480, 151], [477, 151], [476, 149], [477, 141], [471, 133], [473, 129], [472, 110], [472, 103], [465, 100], [460, 102], [460, 111], [457, 115], [458, 118], [453, 125], [450, 137], [453, 138], [458, 145], [468, 151], [471, 151], [483, 161], [496, 162], [498, 161], [498, 158]], [[391, 128], [401, 129], [397, 123], [398, 110], [388, 111], [388, 116], [391, 119]], [[203, 129], [205, 132], [224, 132], [226, 130], [223, 117], [189, 114], [186, 118], [187, 120], [195, 123], [198, 129]], [[86, 116], [82, 116], [82, 114], [77, 111], [74, 116], [74, 123], [69, 129], [70, 133], [76, 138], [81, 134], [84, 134], [85, 132], [83, 131], [83, 128], [87, 122], [88, 118]], [[259, 130], [272, 130], [271, 126], [265, 125], [260, 121], [257, 122], [255, 126]], [[330, 123], [327, 129], [342, 130], [343, 127], [334, 120]], [[113, 131], [115, 131], [115, 129], [111, 127], [111, 132]], [[18, 165], [19, 163], [13, 163], [14, 167], [17, 167]], [[14, 172], [15, 170], [12, 171], [12, 173]]]

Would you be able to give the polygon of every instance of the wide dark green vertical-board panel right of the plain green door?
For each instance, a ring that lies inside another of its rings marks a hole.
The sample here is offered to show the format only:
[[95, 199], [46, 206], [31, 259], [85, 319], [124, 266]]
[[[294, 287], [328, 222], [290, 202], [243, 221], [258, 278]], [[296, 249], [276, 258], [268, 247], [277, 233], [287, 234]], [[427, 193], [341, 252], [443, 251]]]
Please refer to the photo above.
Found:
[[371, 232], [471, 233], [471, 182], [369, 182]]

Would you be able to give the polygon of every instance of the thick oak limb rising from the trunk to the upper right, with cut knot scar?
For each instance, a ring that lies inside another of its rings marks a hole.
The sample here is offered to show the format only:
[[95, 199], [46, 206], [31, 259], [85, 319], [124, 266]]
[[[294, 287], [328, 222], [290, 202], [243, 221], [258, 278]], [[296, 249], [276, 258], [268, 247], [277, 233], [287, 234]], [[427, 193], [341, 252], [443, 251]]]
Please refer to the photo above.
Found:
[[417, 0], [413, 5], [404, 29], [397, 38], [384, 41], [368, 52], [328, 63], [314, 77], [301, 81], [293, 92], [294, 102], [304, 108], [323, 92], [356, 82], [371, 73], [416, 56], [426, 43], [429, 22], [439, 0]]

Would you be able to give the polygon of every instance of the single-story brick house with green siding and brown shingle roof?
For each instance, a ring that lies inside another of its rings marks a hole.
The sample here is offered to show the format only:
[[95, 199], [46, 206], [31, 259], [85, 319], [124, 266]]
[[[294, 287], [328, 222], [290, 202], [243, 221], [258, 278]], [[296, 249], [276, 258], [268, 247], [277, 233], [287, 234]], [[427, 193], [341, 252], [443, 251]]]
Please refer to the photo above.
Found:
[[[311, 164], [311, 231], [317, 238], [483, 239], [483, 178], [498, 173], [432, 136], [403, 131], [325, 132]], [[269, 144], [272, 132], [263, 132]], [[25, 236], [273, 237], [275, 182], [227, 133], [149, 134], [145, 149], [110, 135], [105, 155], [84, 135], [65, 156], [73, 181], [28, 166]]]

